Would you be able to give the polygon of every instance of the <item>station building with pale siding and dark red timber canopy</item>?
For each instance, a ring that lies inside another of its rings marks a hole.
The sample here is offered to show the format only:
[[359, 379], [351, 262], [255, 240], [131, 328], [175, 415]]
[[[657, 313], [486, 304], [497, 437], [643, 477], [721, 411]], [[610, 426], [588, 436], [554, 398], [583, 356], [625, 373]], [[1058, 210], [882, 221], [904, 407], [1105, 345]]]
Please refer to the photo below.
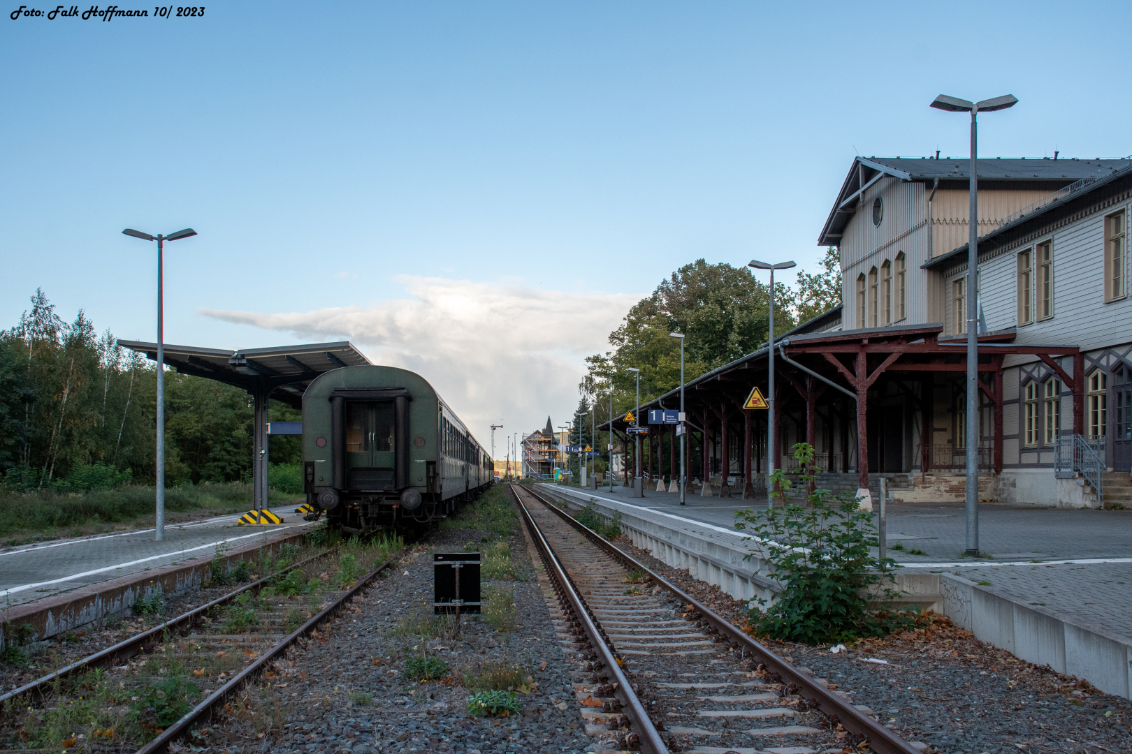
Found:
[[[979, 496], [1132, 500], [1132, 159], [979, 159], [975, 292], [969, 165], [854, 161], [818, 236], [840, 251], [843, 305], [778, 336], [777, 416], [741, 408], [753, 387], [765, 391], [765, 347], [686, 385], [702, 459], [689, 476], [724, 495], [765, 494], [767, 457], [789, 469], [792, 444], [808, 441], [822, 486], [875, 494], [884, 475], [898, 501], [962, 500], [964, 312], [975, 295]], [[674, 390], [641, 410], [678, 400]], [[625, 436], [623, 423], [612, 430]], [[651, 430], [642, 467], [670, 477], [675, 427]]]

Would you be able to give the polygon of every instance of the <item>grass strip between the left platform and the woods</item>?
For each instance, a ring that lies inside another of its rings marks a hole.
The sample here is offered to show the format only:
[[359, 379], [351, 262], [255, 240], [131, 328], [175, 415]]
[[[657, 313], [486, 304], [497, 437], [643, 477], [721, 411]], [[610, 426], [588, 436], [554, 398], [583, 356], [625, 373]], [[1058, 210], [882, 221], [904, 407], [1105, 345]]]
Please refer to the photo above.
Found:
[[[111, 530], [153, 526], [156, 491], [145, 485], [122, 485], [85, 493], [38, 493], [0, 489], [0, 545], [23, 545], [58, 537], [80, 537]], [[297, 500], [271, 491], [273, 503]], [[204, 482], [165, 489], [166, 522], [224, 515], [251, 506], [251, 485]]]

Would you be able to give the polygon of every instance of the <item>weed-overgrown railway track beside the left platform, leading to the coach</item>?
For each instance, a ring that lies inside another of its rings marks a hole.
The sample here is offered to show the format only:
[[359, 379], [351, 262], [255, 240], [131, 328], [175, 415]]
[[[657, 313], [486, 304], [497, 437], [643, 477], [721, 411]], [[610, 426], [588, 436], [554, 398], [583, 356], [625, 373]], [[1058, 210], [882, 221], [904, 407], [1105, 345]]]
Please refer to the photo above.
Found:
[[260, 676], [276, 677], [271, 668], [289, 647], [317, 638], [394, 565], [386, 560], [362, 573], [354, 556], [335, 565], [335, 554], [308, 557], [0, 695], [0, 719], [18, 738], [11, 743], [146, 754], [182, 737], [205, 743], [200, 729], [215, 710]]

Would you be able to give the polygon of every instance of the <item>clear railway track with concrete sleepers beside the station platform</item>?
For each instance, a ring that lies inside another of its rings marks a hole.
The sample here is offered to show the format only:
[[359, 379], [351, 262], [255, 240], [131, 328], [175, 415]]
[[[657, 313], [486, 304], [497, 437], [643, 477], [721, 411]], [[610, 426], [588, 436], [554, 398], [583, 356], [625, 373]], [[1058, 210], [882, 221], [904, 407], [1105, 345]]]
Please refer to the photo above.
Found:
[[575, 685], [590, 733], [649, 754], [917, 751], [565, 511], [511, 489], [557, 592], [559, 639], [591, 673]]

